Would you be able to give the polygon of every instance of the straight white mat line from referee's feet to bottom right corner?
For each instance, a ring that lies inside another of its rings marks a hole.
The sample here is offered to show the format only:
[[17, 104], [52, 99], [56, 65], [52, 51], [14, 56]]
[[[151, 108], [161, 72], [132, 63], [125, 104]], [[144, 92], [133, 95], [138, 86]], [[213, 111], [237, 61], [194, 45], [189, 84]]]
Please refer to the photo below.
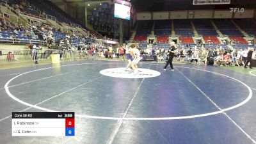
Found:
[[[180, 70], [178, 70], [177, 68], [175, 68], [177, 71], [180, 72]], [[220, 108], [220, 106], [218, 106], [208, 95], [206, 95], [200, 88], [198, 88], [198, 86], [196, 86], [195, 83], [193, 83], [188, 77], [186, 77], [182, 72], [180, 72], [180, 74], [182, 74], [182, 76], [184, 76], [191, 84], [193, 84], [193, 86], [195, 86], [195, 88], [201, 92], [205, 97], [206, 99], [208, 99], [216, 108], [218, 108], [220, 111], [223, 111], [223, 109]], [[250, 136], [247, 132], [245, 132], [234, 120], [232, 120], [232, 118], [230, 118], [230, 116], [227, 115], [227, 113], [225, 113], [225, 111], [223, 111], [223, 115], [227, 116], [227, 118], [234, 124], [236, 125], [236, 127], [242, 131], [246, 136], [247, 138], [249, 138], [253, 143], [256, 144], [256, 141], [253, 140], [252, 136]]]

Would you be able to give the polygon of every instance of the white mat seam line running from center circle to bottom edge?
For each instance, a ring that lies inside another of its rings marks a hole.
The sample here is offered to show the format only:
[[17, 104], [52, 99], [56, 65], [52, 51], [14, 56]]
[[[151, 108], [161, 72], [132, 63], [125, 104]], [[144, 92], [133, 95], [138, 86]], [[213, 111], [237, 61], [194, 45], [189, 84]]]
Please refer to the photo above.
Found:
[[[151, 65], [150, 65], [150, 66], [151, 66]], [[148, 69], [150, 68], [150, 66], [148, 67]], [[129, 104], [128, 104], [126, 110], [125, 110], [125, 113], [124, 113], [124, 115], [122, 116], [122, 118], [125, 118], [125, 116], [127, 115], [129, 109], [131, 108], [132, 102], [133, 102], [133, 100], [136, 98], [136, 95], [138, 94], [138, 92], [139, 92], [139, 90], [140, 90], [140, 87], [141, 87], [141, 85], [142, 85], [144, 79], [145, 79], [145, 78], [142, 79], [140, 85], [138, 86], [136, 92], [134, 93], [132, 99], [130, 100], [130, 102], [129, 102]], [[115, 140], [116, 134], [117, 134], [117, 132], [119, 131], [119, 129], [120, 129], [120, 127], [121, 127], [122, 124], [123, 124], [123, 119], [118, 120], [116, 129], [115, 129], [115, 130], [111, 133], [111, 135], [109, 136], [109, 139], [108, 139], [108, 141], [106, 142], [107, 144], [113, 143], [113, 141]]]

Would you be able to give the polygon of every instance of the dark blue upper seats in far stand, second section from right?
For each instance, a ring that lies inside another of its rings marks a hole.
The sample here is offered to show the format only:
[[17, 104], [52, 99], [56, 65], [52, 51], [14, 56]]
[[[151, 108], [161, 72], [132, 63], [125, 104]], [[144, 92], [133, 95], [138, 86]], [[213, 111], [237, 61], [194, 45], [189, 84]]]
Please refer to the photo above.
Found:
[[243, 36], [241, 31], [236, 28], [236, 26], [228, 19], [216, 19], [214, 24], [220, 29], [223, 35], [228, 36]]

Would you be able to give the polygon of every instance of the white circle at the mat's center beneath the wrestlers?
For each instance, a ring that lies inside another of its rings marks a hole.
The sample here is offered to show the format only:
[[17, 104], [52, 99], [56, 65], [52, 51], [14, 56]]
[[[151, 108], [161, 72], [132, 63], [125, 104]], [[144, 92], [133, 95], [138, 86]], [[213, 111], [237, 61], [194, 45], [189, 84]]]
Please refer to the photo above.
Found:
[[137, 72], [133, 70], [127, 70], [126, 68], [109, 68], [105, 70], [101, 70], [100, 74], [109, 77], [119, 77], [126, 79], [141, 79], [141, 78], [149, 78], [149, 77], [157, 77], [160, 76], [161, 73], [156, 70], [150, 70], [145, 68], [138, 68]]

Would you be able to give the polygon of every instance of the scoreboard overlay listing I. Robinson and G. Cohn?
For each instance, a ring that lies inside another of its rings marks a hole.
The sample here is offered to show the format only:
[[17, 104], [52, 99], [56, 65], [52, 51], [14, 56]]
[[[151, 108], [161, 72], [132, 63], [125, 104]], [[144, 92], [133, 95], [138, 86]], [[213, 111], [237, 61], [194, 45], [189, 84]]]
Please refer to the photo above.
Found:
[[12, 136], [75, 136], [75, 113], [13, 112]]

